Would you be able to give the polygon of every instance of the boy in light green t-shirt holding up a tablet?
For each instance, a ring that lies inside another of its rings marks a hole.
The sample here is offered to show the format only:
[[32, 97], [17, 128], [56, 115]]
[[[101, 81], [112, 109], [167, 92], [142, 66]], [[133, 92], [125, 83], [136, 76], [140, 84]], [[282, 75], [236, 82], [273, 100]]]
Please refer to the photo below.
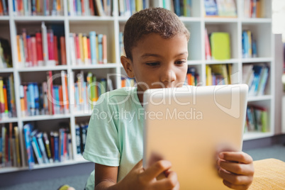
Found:
[[[96, 102], [84, 151], [84, 158], [95, 162], [96, 173], [86, 189], [179, 189], [177, 174], [169, 170], [167, 160], [143, 169], [142, 104], [146, 89], [184, 84], [189, 36], [184, 23], [166, 9], [145, 9], [129, 18], [124, 30], [126, 57], [121, 62], [137, 87], [110, 91]], [[249, 155], [220, 152], [218, 166], [226, 186], [247, 189], [252, 183]], [[164, 179], [157, 180], [162, 172]]]

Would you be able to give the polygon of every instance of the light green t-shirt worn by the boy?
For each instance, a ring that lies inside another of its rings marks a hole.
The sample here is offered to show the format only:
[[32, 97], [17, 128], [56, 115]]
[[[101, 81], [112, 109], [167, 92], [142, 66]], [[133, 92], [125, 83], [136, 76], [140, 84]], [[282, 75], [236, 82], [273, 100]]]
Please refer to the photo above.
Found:
[[[102, 94], [92, 111], [83, 157], [118, 167], [121, 181], [143, 158], [144, 113], [136, 87]], [[86, 189], [94, 189], [94, 172]]]

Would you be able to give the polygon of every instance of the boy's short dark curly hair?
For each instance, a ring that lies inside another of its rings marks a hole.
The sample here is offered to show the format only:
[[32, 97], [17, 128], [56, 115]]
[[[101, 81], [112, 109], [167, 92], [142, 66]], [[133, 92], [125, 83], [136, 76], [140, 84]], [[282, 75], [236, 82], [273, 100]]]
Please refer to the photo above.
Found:
[[189, 30], [172, 11], [163, 8], [144, 9], [133, 14], [125, 23], [123, 43], [126, 57], [133, 60], [131, 52], [133, 47], [150, 33], [157, 33], [165, 39], [179, 33], [185, 35], [187, 40], [190, 38]]

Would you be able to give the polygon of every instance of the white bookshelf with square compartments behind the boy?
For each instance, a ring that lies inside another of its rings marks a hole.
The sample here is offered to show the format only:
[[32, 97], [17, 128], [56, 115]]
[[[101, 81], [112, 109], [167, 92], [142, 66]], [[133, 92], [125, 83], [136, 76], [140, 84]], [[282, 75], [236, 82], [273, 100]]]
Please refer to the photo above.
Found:
[[[267, 133], [245, 133], [245, 140], [252, 140], [257, 138], [265, 138], [274, 135], [274, 40], [272, 40], [272, 11], [271, 1], [264, 1], [265, 18], [243, 18], [241, 1], [237, 0], [238, 17], [237, 18], [205, 18], [203, 15], [203, 1], [192, 1], [192, 16], [181, 17], [186, 25], [186, 28], [191, 32], [189, 40], [189, 67], [195, 67], [199, 73], [201, 82], [206, 84], [206, 65], [213, 64], [233, 64], [233, 73], [238, 73], [237, 82], [242, 79], [242, 65], [255, 64], [265, 62], [270, 66], [269, 83], [267, 84], [266, 93], [264, 96], [249, 97], [250, 104], [264, 106], [269, 111]], [[96, 77], [106, 77], [107, 74], [125, 74], [120, 63], [119, 52], [119, 32], [123, 31], [125, 22], [128, 18], [118, 16], [118, 1], [113, 1], [113, 16], [67, 16], [67, 1], [64, 7], [64, 16], [14, 16], [13, 1], [9, 0], [9, 16], [0, 16], [0, 36], [7, 38], [11, 43], [13, 68], [0, 69], [0, 76], [13, 73], [15, 81], [16, 93], [16, 110], [17, 118], [9, 118], [0, 123], [18, 123], [18, 128], [22, 132], [23, 125], [28, 121], [36, 121], [41, 124], [40, 128], [49, 128], [51, 125], [57, 126], [60, 121], [68, 121], [70, 123], [70, 130], [72, 133], [72, 151], [76, 152], [75, 144], [75, 121], [89, 121], [91, 112], [84, 113], [83, 111], [74, 111], [70, 107], [69, 114], [61, 114], [55, 116], [21, 116], [21, 104], [19, 100], [19, 86], [21, 82], [43, 82], [48, 70], [58, 73], [61, 70], [67, 71], [67, 74], [74, 72], [79, 73], [93, 72]], [[89, 33], [95, 30], [96, 33], [104, 33], [108, 38], [108, 64], [107, 65], [72, 65], [68, 56], [69, 43], [66, 38], [66, 52], [67, 65], [59, 65], [56, 67], [19, 67], [16, 60], [17, 46], [16, 35], [21, 28], [35, 31], [35, 28], [40, 28], [41, 21], [46, 23], [57, 23], [65, 28], [65, 37], [69, 33]], [[230, 33], [231, 43], [231, 59], [218, 61], [206, 60], [205, 58], [205, 39], [204, 30], [207, 28], [210, 32], [228, 32]], [[257, 57], [256, 58], [242, 58], [242, 30], [249, 29], [255, 34], [257, 39]], [[121, 77], [113, 77], [114, 89], [121, 87]], [[23, 133], [20, 133], [20, 140], [23, 142]], [[25, 152], [23, 143], [21, 143], [21, 158], [23, 160], [23, 167], [21, 168], [1, 168], [0, 173], [15, 172], [18, 170], [28, 169], [25, 164]], [[81, 156], [73, 155], [72, 160], [68, 162], [60, 162], [57, 164], [45, 164], [35, 166], [35, 169], [45, 167], [56, 167], [66, 164], [77, 164], [79, 162], [86, 162]]]

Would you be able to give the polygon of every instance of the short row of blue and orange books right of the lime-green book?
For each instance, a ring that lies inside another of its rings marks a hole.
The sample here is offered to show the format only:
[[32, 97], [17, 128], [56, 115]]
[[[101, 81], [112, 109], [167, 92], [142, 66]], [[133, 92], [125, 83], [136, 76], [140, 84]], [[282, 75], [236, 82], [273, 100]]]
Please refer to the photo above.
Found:
[[242, 31], [242, 57], [257, 57], [257, 43], [250, 30]]

